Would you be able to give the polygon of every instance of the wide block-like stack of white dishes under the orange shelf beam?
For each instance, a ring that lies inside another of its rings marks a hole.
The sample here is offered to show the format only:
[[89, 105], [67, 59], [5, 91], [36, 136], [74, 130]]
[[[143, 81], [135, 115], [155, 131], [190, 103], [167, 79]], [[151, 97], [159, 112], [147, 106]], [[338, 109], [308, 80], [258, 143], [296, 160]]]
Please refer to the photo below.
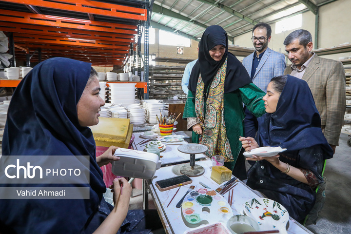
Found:
[[111, 103], [122, 104], [122, 106], [134, 104], [136, 97], [135, 85], [135, 83], [109, 83]]

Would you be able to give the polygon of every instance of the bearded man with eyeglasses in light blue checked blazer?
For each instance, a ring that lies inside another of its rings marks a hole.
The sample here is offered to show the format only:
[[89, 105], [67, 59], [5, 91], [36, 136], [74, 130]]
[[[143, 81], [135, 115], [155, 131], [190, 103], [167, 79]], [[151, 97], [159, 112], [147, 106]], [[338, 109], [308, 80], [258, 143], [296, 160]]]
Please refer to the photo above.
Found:
[[[267, 90], [267, 85], [273, 77], [281, 76], [286, 68], [283, 54], [268, 48], [271, 40], [272, 28], [267, 23], [257, 23], [253, 28], [253, 37], [256, 51], [243, 59], [243, 65], [249, 73], [253, 83]], [[244, 130], [245, 137], [255, 137], [258, 124], [256, 117], [245, 109]]]

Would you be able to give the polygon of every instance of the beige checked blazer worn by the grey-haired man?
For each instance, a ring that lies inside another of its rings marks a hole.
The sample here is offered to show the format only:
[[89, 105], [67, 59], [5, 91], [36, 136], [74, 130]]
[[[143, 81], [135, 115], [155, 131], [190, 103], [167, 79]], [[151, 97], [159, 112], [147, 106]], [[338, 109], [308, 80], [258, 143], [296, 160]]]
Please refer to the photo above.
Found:
[[[284, 75], [292, 72], [288, 66]], [[346, 109], [345, 70], [340, 61], [314, 55], [302, 77], [310, 86], [328, 143], [339, 145]]]

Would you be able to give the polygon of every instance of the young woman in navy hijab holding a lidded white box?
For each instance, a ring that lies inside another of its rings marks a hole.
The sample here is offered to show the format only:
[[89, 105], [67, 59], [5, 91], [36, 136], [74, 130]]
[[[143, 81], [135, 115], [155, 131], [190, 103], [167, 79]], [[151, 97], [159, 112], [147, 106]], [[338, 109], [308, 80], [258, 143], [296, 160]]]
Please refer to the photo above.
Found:
[[125, 178], [114, 181], [113, 209], [103, 199], [106, 186], [100, 167], [119, 158], [113, 156], [114, 146], [96, 158], [88, 126], [98, 124], [98, 111], [104, 105], [99, 92], [91, 63], [73, 59], [47, 59], [20, 82], [8, 109], [3, 157], [90, 156], [90, 199], [0, 200], [0, 233], [116, 234], [121, 225], [133, 229], [145, 216], [134, 212], [134, 221], [125, 220], [132, 190]]

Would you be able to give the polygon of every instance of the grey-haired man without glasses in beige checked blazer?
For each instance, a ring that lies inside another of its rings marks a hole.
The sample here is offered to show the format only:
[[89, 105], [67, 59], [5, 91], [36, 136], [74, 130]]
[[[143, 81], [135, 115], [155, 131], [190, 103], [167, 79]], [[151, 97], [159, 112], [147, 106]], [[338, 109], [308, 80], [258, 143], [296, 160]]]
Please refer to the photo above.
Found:
[[292, 62], [284, 75], [303, 79], [310, 86], [321, 116], [323, 134], [335, 153], [346, 108], [344, 66], [340, 61], [314, 54], [312, 36], [307, 30], [293, 31], [284, 40], [284, 45]]

